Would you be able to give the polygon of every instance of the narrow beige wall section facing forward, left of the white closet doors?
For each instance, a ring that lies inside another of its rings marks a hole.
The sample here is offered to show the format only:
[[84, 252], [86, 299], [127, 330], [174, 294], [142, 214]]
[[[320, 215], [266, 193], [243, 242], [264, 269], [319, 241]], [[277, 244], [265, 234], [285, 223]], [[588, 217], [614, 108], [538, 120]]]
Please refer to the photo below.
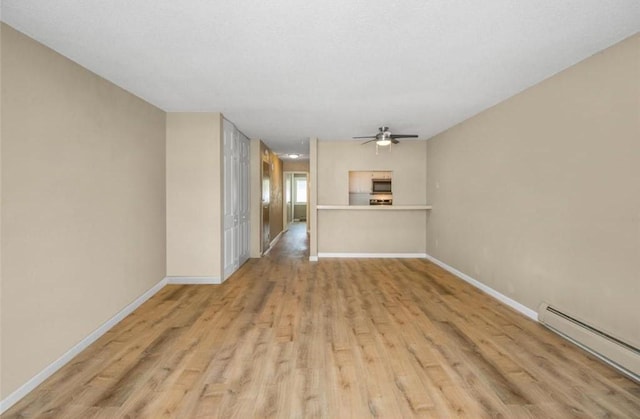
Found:
[[220, 113], [167, 114], [167, 276], [222, 276]]

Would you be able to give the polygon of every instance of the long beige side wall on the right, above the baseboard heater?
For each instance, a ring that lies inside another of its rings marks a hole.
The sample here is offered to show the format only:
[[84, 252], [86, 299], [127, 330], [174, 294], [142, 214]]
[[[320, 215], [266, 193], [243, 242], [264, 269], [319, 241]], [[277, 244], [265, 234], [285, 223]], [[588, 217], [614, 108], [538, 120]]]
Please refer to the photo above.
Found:
[[640, 346], [640, 35], [428, 141], [428, 253]]

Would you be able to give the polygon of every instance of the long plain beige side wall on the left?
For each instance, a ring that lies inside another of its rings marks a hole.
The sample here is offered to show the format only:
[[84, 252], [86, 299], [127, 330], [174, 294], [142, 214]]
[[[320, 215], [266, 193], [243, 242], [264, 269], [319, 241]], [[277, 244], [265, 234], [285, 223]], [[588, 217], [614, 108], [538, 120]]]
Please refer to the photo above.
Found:
[[165, 113], [2, 24], [5, 398], [165, 276]]

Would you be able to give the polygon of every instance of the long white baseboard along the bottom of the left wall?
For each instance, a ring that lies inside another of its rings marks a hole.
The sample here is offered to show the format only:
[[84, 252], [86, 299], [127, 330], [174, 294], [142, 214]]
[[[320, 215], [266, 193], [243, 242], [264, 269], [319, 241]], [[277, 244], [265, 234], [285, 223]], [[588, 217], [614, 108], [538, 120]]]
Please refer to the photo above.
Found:
[[85, 350], [89, 345], [98, 340], [102, 335], [109, 331], [113, 326], [118, 324], [122, 319], [127, 317], [129, 314], [133, 313], [133, 311], [140, 307], [145, 301], [149, 298], [153, 297], [158, 291], [162, 289], [167, 284], [167, 278], [162, 279], [156, 285], [147, 290], [140, 297], [136, 298], [132, 303], [127, 305], [125, 308], [120, 310], [115, 316], [104, 322], [100, 327], [91, 332], [87, 337], [82, 339], [76, 345], [74, 345], [71, 349], [65, 352], [60, 358], [53, 361], [51, 364], [46, 366], [42, 371], [37, 373], [31, 379], [29, 379], [26, 383], [18, 387], [13, 393], [9, 394], [3, 400], [0, 400], [0, 414], [3, 414], [7, 411], [11, 406], [16, 404], [20, 399], [29, 394], [33, 389], [38, 387], [44, 380], [53, 375], [56, 371], [62, 368], [66, 363], [71, 361], [76, 355]]

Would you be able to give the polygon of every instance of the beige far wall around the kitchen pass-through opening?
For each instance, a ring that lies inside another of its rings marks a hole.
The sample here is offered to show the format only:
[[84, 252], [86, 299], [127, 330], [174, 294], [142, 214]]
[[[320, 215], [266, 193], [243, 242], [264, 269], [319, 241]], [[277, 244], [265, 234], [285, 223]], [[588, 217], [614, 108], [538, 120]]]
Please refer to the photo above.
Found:
[[[378, 154], [374, 144], [318, 141], [317, 203], [348, 205], [349, 171], [359, 170], [391, 171], [394, 205], [426, 205], [426, 161], [425, 141], [402, 141], [390, 152], [380, 148]], [[422, 254], [426, 251], [426, 217], [424, 210], [318, 210], [317, 251]]]

